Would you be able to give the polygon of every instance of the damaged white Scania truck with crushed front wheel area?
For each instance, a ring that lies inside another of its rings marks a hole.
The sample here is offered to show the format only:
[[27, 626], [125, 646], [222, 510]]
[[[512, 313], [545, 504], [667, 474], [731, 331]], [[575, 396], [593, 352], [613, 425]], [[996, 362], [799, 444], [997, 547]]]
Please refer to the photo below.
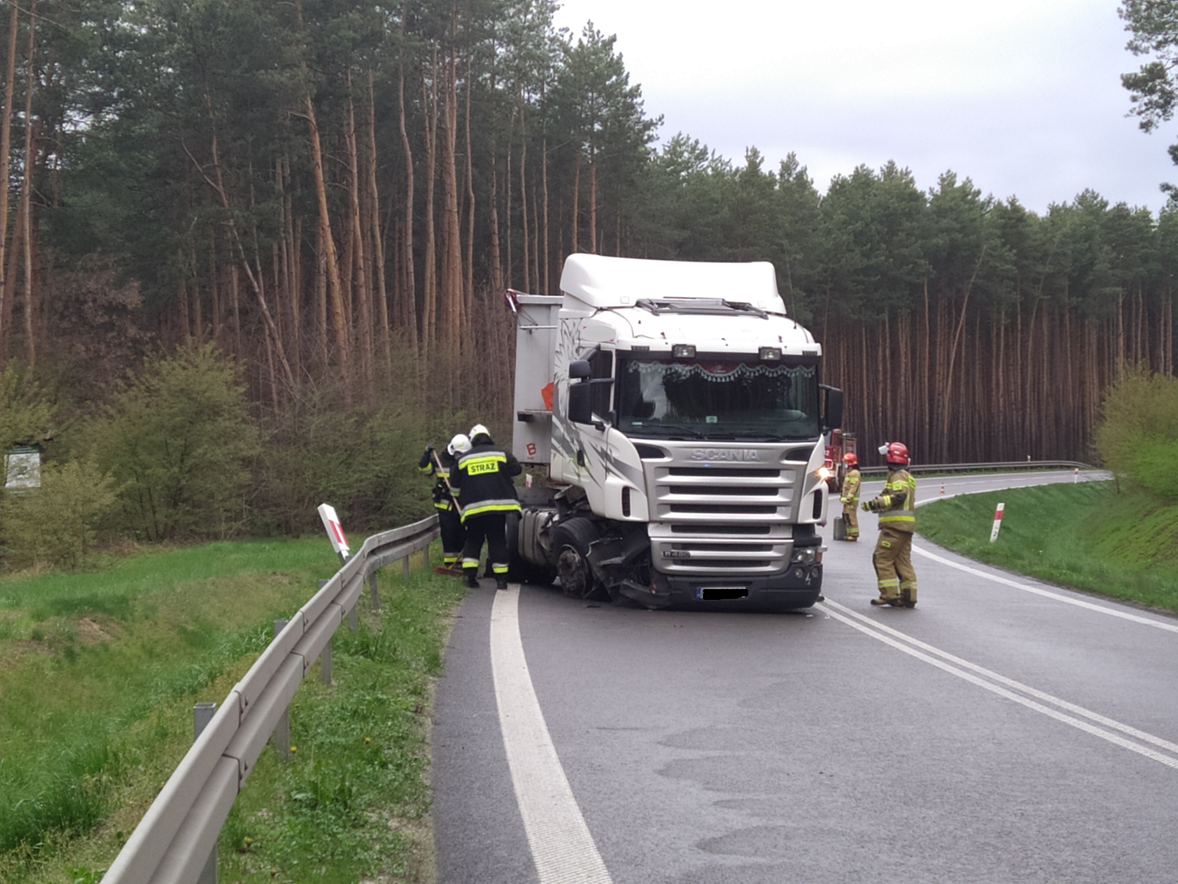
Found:
[[509, 291], [518, 579], [647, 607], [803, 608], [822, 585], [842, 392], [773, 265], [574, 255]]

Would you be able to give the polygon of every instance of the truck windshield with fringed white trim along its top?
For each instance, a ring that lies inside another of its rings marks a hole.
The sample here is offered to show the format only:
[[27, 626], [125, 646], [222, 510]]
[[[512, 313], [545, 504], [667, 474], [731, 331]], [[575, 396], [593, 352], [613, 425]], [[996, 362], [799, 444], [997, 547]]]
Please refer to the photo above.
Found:
[[816, 365], [755, 359], [617, 363], [617, 428], [651, 438], [812, 440]]

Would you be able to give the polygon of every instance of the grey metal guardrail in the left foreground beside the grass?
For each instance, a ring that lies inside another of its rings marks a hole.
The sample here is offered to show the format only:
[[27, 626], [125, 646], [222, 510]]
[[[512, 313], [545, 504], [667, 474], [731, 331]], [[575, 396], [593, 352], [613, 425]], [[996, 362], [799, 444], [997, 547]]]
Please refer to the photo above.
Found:
[[[315, 660], [353, 612], [375, 572], [425, 550], [437, 516], [375, 534], [291, 618], [233, 686], [102, 876], [102, 884], [192, 884], [217, 846], [230, 807]], [[330, 648], [329, 648], [330, 649]]]

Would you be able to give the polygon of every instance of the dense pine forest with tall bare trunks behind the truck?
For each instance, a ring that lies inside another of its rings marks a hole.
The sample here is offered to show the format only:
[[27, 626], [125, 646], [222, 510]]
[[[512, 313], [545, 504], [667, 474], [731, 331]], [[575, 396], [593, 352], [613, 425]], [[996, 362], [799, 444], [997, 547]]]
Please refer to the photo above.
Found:
[[773, 262], [846, 428], [916, 463], [1091, 461], [1103, 390], [1173, 374], [1178, 212], [721, 157], [555, 6], [11, 0], [0, 362], [64, 424], [194, 342], [264, 438], [379, 409], [509, 434], [503, 291], [557, 293], [580, 251]]

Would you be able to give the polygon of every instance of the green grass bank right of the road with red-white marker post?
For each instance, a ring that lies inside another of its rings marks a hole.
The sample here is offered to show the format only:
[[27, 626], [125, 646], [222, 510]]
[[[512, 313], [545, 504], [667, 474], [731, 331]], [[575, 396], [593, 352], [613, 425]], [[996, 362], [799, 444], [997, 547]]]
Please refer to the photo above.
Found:
[[[994, 509], [1002, 526], [990, 542]], [[1178, 611], [1178, 507], [1112, 482], [958, 495], [920, 507], [918, 532], [978, 561]]]

